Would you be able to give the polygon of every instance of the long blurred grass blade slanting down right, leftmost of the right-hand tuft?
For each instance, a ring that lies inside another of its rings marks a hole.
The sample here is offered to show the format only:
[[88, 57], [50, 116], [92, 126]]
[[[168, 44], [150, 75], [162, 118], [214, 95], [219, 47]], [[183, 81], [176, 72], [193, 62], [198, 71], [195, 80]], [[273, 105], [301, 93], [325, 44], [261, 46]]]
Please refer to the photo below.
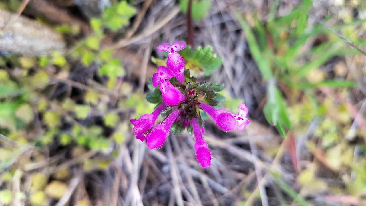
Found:
[[249, 23], [242, 16], [240, 16], [238, 12], [234, 13], [246, 33], [247, 42], [249, 45], [251, 55], [253, 56], [255, 62], [258, 65], [258, 69], [259, 71], [261, 71], [263, 79], [266, 81], [269, 80], [273, 76], [272, 71], [270, 70], [270, 64], [267, 58], [263, 56], [262, 52], [260, 51], [258, 43], [255, 40], [253, 30], [249, 26]]

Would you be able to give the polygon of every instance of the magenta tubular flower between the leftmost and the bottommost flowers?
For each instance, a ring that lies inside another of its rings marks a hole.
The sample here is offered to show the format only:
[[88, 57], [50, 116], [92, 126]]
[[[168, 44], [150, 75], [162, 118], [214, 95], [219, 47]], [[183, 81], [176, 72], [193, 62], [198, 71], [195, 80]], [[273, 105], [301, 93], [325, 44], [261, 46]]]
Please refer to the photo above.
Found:
[[174, 110], [163, 122], [156, 125], [151, 132], [146, 135], [147, 147], [149, 147], [150, 150], [163, 147], [169, 135], [169, 129], [178, 117], [178, 114], [179, 111]]

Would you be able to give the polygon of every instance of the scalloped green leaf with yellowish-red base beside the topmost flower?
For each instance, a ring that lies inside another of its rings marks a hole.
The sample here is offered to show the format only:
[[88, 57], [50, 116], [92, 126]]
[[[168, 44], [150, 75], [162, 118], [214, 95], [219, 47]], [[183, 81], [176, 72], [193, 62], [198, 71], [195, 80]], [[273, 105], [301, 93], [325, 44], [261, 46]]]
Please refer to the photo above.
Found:
[[216, 57], [211, 46], [205, 48], [197, 47], [193, 52], [189, 47], [178, 51], [186, 62], [186, 69], [193, 69], [197, 71], [203, 70], [204, 76], [209, 76], [216, 69], [218, 69], [223, 59]]

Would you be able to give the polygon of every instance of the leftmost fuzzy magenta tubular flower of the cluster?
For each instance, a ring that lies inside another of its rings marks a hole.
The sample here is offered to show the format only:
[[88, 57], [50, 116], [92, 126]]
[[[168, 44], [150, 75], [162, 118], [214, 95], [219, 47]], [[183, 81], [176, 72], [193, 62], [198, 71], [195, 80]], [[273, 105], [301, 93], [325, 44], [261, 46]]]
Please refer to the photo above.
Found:
[[132, 131], [134, 132], [136, 136], [136, 139], [145, 140], [145, 136], [150, 129], [155, 125], [155, 121], [158, 118], [161, 111], [165, 109], [165, 104], [160, 104], [152, 113], [147, 113], [142, 115], [138, 120], [137, 119], [131, 119], [131, 124], [134, 125], [134, 128]]

